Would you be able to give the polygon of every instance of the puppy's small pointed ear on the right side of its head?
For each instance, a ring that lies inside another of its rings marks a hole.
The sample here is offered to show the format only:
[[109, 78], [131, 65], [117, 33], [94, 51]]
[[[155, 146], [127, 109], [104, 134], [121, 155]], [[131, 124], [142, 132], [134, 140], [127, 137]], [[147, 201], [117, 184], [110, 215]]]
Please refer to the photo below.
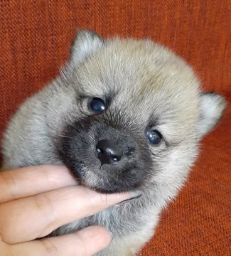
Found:
[[225, 99], [215, 92], [204, 92], [200, 95], [199, 139], [215, 127], [222, 117], [226, 105]]

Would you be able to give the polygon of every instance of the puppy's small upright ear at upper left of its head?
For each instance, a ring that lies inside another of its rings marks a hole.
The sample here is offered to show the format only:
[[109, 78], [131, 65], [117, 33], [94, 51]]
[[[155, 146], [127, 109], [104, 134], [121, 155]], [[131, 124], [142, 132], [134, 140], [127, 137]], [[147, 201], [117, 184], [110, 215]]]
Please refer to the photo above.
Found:
[[70, 50], [70, 61], [81, 63], [87, 56], [94, 53], [98, 48], [101, 48], [103, 43], [102, 37], [97, 35], [94, 31], [77, 31], [77, 35]]

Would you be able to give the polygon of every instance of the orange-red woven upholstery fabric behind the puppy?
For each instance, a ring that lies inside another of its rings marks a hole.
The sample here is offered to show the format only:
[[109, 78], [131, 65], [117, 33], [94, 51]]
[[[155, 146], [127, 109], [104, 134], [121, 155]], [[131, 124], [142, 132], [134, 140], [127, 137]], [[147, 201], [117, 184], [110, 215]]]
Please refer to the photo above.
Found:
[[[18, 105], [58, 74], [77, 28], [165, 44], [230, 100], [230, 9], [229, 0], [0, 0], [0, 139]], [[230, 255], [230, 117], [229, 107], [141, 255]]]

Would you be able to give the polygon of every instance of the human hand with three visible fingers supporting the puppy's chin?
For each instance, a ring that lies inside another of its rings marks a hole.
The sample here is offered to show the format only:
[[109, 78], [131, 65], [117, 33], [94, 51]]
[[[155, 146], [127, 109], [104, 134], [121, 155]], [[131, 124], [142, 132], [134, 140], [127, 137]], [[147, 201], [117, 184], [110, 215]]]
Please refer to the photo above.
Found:
[[[63, 166], [30, 166], [0, 172], [1, 255], [94, 255], [112, 235], [100, 226], [43, 238], [60, 225], [80, 220], [132, 197], [80, 186]], [[37, 239], [41, 238], [41, 239]]]

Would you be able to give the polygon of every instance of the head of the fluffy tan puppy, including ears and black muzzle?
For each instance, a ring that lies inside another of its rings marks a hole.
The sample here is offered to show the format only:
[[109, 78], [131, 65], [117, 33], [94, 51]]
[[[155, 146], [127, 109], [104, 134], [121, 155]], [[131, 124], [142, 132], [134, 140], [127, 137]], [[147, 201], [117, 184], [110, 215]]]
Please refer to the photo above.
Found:
[[220, 95], [200, 91], [181, 58], [151, 41], [80, 31], [60, 81], [70, 99], [60, 98], [60, 158], [86, 186], [107, 193], [177, 189], [225, 109]]

